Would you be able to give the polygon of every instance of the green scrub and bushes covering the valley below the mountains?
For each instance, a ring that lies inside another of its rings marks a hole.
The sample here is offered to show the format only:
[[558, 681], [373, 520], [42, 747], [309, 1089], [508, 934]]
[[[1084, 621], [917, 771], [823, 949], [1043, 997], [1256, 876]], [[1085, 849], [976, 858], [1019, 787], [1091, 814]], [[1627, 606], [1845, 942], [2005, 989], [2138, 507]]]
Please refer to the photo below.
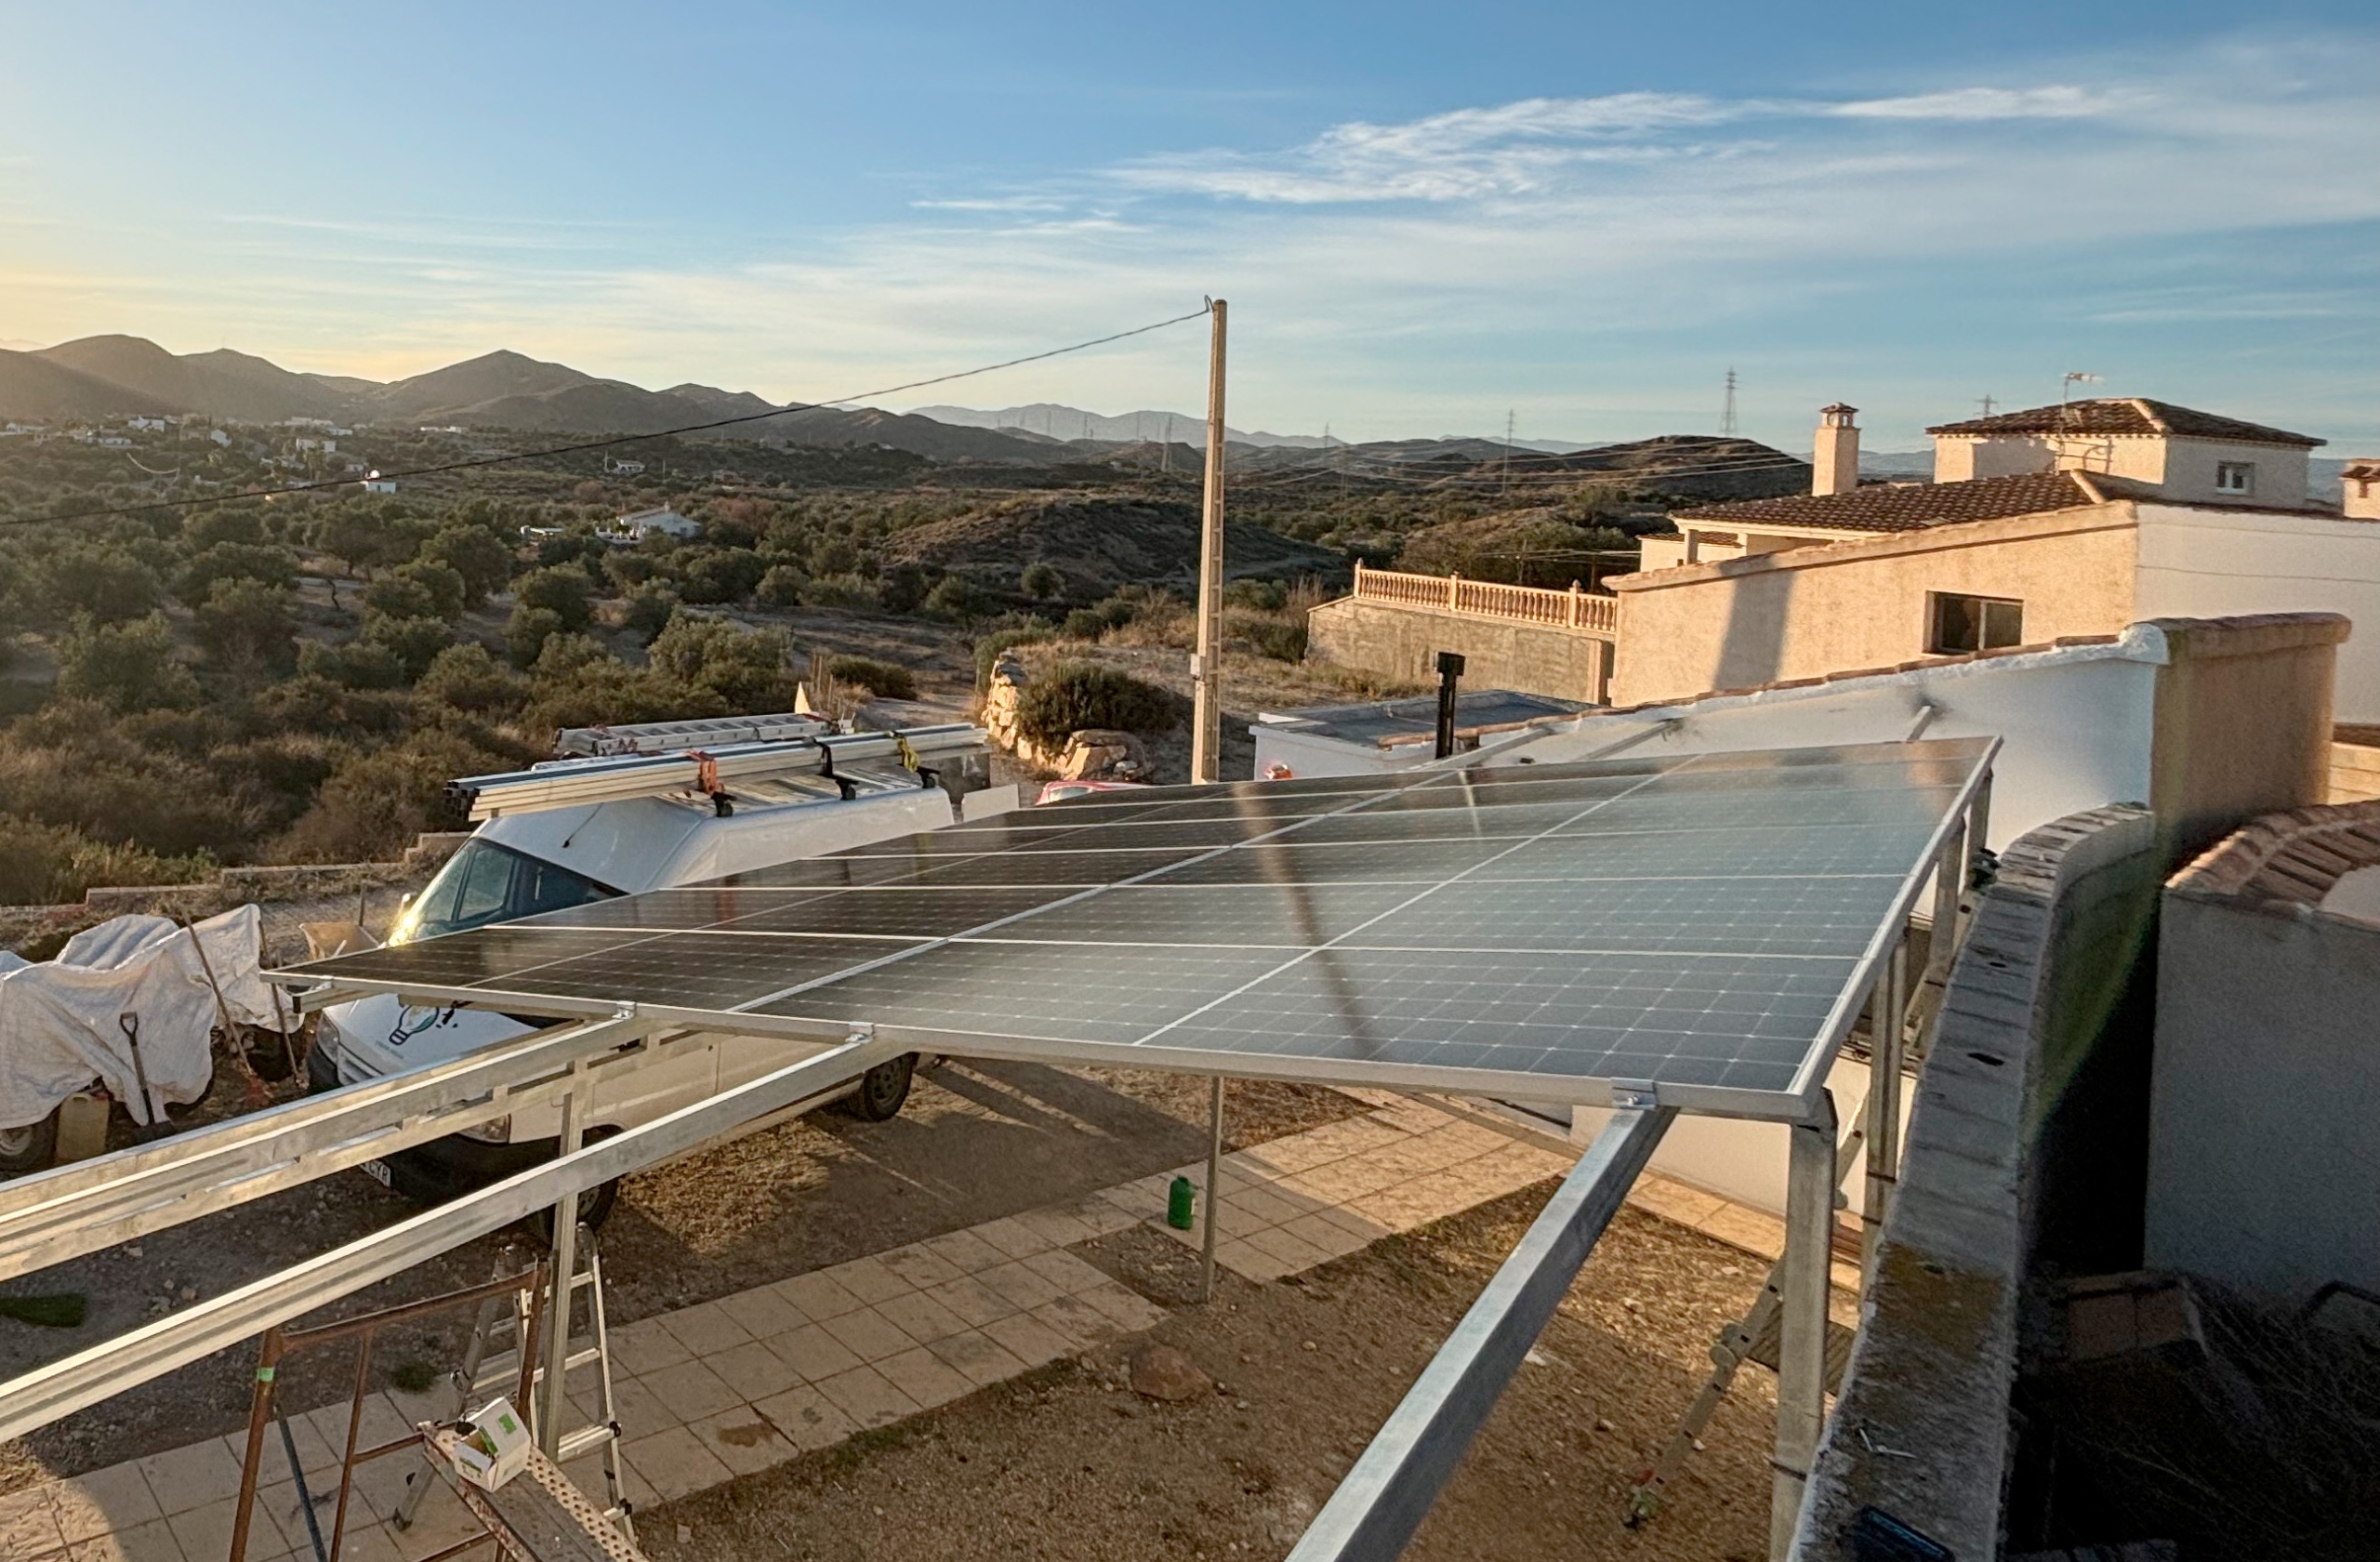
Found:
[[[500, 438], [340, 448], [402, 469]], [[1180, 724], [1176, 693], [1119, 667], [1190, 645], [1197, 491], [1126, 455], [1035, 469], [662, 438], [635, 474], [581, 455], [395, 495], [79, 514], [324, 476], [293, 448], [252, 426], [228, 445], [188, 426], [129, 450], [0, 441], [0, 902], [390, 857], [457, 824], [450, 776], [545, 757], [559, 726], [790, 710], [814, 657], [840, 695], [938, 693], [838, 626], [973, 645], [978, 683], [1047, 645], [1064, 664], [1033, 724], [1054, 741]], [[1252, 479], [1233, 502], [1226, 645], [1280, 667], [1357, 557], [1397, 562], [1411, 538], [1416, 564], [1495, 579], [1507, 533], [1518, 552], [1611, 541], [1595, 495], [1509, 524], [1473, 488]], [[605, 536], [662, 505], [697, 531]]]

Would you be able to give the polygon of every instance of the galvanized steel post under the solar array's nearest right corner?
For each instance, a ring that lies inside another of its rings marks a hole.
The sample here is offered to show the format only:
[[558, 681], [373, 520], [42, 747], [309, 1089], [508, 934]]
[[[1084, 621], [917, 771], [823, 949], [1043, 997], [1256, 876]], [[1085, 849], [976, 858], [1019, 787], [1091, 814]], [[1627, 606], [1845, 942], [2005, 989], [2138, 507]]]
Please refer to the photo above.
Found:
[[[1873, 1145], [1871, 1145], [1873, 1150]], [[1785, 1179], [1785, 1260], [1778, 1286], [1778, 1443], [1768, 1495], [1768, 1557], [1792, 1552], [1802, 1493], [1825, 1431], [1825, 1300], [1835, 1238], [1835, 1095], [1818, 1091], [1818, 1114], [1792, 1124]]]

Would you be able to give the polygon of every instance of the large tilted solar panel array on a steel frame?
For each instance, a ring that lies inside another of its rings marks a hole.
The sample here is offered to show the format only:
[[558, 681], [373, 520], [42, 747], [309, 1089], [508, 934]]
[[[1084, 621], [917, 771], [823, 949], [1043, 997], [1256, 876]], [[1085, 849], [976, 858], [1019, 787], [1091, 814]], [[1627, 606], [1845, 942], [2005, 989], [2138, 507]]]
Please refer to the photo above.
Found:
[[1985, 741], [1095, 793], [300, 967], [919, 1050], [1790, 1112]]

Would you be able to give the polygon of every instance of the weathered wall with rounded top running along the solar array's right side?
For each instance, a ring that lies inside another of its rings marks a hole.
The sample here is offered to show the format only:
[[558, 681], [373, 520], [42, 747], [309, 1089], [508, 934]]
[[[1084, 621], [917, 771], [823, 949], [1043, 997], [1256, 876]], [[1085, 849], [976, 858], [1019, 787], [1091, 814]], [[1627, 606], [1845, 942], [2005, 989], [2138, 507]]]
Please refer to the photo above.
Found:
[[2161, 876], [2137, 807], [2059, 819], [2002, 857], [1911, 1095], [1902, 1191], [1797, 1560], [1852, 1562], [1864, 1507], [1954, 1557], [1999, 1555], [2018, 1295], [2044, 1214], [2090, 1198], [2068, 1145], [2104, 1105], [2092, 1074], [2128, 1029], [2111, 1021], [2152, 948]]

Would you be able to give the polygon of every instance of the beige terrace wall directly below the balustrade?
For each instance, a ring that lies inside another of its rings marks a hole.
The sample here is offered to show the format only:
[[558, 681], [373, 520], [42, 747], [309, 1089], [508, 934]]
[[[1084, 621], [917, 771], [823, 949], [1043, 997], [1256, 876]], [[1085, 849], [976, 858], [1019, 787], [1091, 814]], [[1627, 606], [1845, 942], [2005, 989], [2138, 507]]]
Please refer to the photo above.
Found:
[[1307, 655], [1364, 671], [1438, 681], [1438, 652], [1464, 657], [1464, 688], [1604, 700], [1611, 643], [1576, 629], [1340, 598], [1307, 614]]

